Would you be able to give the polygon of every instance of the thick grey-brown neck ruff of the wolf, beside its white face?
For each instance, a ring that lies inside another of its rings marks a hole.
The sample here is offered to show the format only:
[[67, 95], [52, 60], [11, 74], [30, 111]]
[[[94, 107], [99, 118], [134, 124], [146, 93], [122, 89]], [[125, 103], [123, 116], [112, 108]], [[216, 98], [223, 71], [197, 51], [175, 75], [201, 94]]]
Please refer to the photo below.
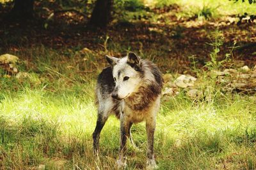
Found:
[[125, 99], [125, 104], [132, 110], [141, 111], [154, 102], [161, 94], [163, 79], [159, 69], [152, 62], [142, 60], [141, 83], [138, 90]]

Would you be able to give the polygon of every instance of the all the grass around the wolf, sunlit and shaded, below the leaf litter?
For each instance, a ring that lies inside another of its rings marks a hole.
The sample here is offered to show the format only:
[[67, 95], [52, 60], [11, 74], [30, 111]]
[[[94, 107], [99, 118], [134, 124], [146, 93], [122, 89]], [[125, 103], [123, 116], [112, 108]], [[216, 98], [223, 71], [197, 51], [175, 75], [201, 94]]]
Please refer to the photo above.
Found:
[[[102, 131], [100, 155], [92, 154], [93, 92], [97, 73], [106, 66], [103, 53], [70, 52], [67, 58], [44, 46], [16, 53], [26, 56], [20, 69], [30, 76], [1, 77], [1, 169], [116, 169], [115, 117]], [[255, 97], [212, 93], [211, 101], [196, 102], [180, 92], [161, 104], [155, 139], [159, 169], [255, 169]], [[143, 169], [145, 124], [134, 125], [132, 134], [142, 152], [129, 147], [128, 169]]]

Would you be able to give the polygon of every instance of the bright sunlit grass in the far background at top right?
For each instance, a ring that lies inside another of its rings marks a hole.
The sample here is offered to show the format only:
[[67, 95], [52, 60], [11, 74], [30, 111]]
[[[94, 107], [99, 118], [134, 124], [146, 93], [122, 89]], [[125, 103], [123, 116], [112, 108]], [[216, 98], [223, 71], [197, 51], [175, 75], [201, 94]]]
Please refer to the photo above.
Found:
[[[177, 8], [177, 5], [179, 8]], [[248, 1], [243, 3], [242, 1], [213, 1], [213, 0], [203, 0], [203, 1], [186, 1], [186, 0], [147, 0], [145, 1], [145, 6], [149, 8], [169, 8], [170, 11], [167, 13], [162, 13], [161, 15], [155, 15], [154, 13], [145, 13], [143, 15], [149, 15], [150, 21], [152, 23], [159, 22], [159, 17], [164, 18], [164, 22], [172, 22], [168, 20], [168, 15], [175, 15], [178, 20], [183, 19], [198, 19], [198, 20], [223, 20], [223, 17], [227, 15], [244, 15], [244, 13], [249, 13], [253, 15], [256, 13], [256, 4], [249, 4]], [[172, 9], [173, 8], [173, 9]], [[177, 12], [178, 11], [178, 12]], [[136, 15], [131, 13], [131, 16]], [[137, 14], [138, 15], [138, 14]], [[130, 16], [130, 18], [132, 18]], [[129, 15], [127, 15], [129, 17]], [[170, 17], [170, 16], [169, 16]]]

